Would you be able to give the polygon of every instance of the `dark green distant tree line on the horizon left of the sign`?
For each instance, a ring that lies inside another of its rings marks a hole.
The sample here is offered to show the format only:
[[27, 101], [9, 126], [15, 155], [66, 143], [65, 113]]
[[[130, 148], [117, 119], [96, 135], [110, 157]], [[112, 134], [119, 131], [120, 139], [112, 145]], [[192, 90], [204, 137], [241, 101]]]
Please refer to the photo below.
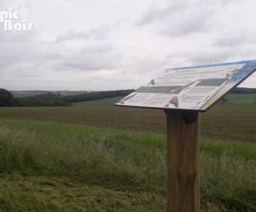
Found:
[[43, 93], [34, 97], [14, 98], [14, 95], [0, 88], [0, 107], [40, 107], [71, 106], [71, 103], [85, 102], [102, 98], [124, 97], [134, 90], [117, 90], [107, 92], [88, 92], [78, 95], [61, 96], [60, 93]]

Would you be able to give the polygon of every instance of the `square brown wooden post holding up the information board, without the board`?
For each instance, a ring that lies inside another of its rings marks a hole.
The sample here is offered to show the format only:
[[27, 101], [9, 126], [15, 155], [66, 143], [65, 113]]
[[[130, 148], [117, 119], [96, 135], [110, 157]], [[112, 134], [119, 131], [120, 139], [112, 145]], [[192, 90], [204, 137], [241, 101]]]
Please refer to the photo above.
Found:
[[166, 110], [168, 212], [200, 211], [198, 112]]

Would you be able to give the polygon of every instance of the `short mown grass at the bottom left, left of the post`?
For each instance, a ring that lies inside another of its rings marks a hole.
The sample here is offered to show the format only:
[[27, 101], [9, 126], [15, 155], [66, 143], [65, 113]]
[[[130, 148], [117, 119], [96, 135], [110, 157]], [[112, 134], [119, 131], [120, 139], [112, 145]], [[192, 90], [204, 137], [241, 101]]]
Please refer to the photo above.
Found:
[[[68, 178], [0, 177], [1, 211], [164, 211], [165, 198], [151, 192], [115, 191]], [[216, 207], [216, 206], [215, 206]]]

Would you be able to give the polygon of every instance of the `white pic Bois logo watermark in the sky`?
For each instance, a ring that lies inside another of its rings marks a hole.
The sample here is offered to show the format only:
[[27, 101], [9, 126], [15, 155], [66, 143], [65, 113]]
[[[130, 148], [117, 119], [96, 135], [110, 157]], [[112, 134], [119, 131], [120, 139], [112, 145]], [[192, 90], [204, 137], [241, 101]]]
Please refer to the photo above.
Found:
[[0, 23], [3, 23], [3, 31], [31, 31], [33, 27], [26, 19], [20, 20], [19, 11], [14, 11], [13, 8], [0, 11]]

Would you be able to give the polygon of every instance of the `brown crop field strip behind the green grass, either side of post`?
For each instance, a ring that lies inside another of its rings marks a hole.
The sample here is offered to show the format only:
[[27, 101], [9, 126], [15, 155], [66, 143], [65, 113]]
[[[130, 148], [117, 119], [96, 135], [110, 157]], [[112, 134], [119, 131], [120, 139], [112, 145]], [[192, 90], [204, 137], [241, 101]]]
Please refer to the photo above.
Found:
[[[162, 110], [104, 105], [101, 108], [0, 108], [0, 119], [46, 120], [162, 134], [166, 131], [166, 115]], [[256, 104], [217, 104], [202, 113], [201, 130], [202, 137], [256, 142]]]

